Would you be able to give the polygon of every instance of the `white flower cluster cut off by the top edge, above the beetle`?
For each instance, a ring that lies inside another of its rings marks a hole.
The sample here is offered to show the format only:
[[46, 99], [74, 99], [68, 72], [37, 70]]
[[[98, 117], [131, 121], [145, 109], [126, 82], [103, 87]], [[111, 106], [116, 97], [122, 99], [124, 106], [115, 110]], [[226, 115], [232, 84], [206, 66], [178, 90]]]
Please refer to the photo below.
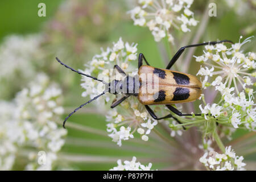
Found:
[[168, 37], [173, 42], [171, 28], [188, 32], [188, 26], [196, 26], [197, 20], [189, 10], [193, 0], [139, 0], [139, 6], [129, 11], [134, 25], [147, 26], [155, 41]]

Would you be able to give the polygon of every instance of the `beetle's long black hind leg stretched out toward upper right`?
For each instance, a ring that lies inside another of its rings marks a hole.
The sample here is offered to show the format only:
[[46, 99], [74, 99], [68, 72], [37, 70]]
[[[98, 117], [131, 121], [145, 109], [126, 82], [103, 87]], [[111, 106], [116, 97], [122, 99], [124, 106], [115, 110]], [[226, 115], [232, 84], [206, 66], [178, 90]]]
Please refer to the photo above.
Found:
[[218, 43], [222, 43], [222, 42], [228, 42], [228, 43], [232, 43], [232, 41], [230, 40], [221, 40], [221, 41], [214, 41], [214, 42], [206, 42], [206, 43], [201, 43], [201, 44], [192, 44], [192, 45], [189, 45], [189, 46], [184, 46], [184, 47], [181, 47], [179, 49], [179, 51], [177, 51], [174, 55], [174, 57], [172, 57], [170, 63], [167, 65], [166, 69], [170, 69], [172, 67], [172, 65], [174, 65], [174, 63], [177, 61], [177, 59], [179, 59], [180, 55], [184, 52], [185, 48], [188, 48], [188, 47], [197, 47], [197, 46], [206, 46], [206, 45], [215, 45], [215, 44], [218, 44]]

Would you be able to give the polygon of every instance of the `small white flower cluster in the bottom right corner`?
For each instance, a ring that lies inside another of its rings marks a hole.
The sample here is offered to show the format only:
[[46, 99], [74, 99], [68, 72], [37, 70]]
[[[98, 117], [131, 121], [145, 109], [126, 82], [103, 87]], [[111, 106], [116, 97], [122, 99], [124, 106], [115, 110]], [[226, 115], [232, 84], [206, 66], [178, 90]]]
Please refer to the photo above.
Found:
[[199, 159], [210, 170], [216, 171], [243, 171], [246, 164], [242, 162], [243, 156], [237, 156], [231, 146], [226, 147], [225, 154], [215, 151], [205, 152]]

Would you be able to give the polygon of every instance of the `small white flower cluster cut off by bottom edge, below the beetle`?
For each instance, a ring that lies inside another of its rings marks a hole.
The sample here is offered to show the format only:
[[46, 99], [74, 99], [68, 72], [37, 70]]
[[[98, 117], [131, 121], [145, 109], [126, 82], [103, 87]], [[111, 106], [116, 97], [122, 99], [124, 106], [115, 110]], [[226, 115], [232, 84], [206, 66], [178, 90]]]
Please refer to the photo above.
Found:
[[122, 160], [117, 160], [117, 167], [110, 169], [110, 171], [151, 171], [150, 168], [152, 167], [151, 163], [148, 163], [147, 166], [142, 165], [140, 162], [136, 162], [137, 158], [133, 156], [133, 160], [128, 161], [125, 160], [122, 164]]

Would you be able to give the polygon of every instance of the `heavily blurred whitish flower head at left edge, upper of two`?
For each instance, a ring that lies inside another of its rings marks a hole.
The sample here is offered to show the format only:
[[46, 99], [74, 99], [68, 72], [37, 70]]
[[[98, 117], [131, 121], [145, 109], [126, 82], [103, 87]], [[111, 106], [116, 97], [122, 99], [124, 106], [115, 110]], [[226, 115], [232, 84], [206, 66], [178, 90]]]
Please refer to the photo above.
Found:
[[[42, 36], [10, 35], [0, 46], [0, 98], [7, 100], [34, 77], [35, 65], [42, 64]], [[10, 84], [11, 83], [11, 84]]]

